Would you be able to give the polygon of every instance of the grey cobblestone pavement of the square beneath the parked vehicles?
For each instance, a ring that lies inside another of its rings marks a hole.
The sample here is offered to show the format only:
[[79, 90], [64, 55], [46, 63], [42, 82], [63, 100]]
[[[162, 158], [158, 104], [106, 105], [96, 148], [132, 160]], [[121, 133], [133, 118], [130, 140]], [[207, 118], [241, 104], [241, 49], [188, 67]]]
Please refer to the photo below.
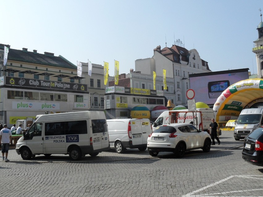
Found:
[[262, 196], [263, 167], [242, 159], [243, 142], [222, 131], [209, 153], [114, 150], [71, 162], [68, 155], [25, 161], [14, 149], [0, 162], [0, 196]]

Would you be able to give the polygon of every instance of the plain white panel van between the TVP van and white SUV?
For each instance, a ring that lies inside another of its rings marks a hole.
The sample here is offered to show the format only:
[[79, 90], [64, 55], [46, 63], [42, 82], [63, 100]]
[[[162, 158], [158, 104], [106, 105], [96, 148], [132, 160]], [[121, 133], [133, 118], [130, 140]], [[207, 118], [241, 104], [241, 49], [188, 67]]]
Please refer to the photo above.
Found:
[[147, 138], [152, 133], [149, 119], [111, 119], [107, 125], [110, 147], [117, 153], [123, 153], [126, 148], [147, 149]]

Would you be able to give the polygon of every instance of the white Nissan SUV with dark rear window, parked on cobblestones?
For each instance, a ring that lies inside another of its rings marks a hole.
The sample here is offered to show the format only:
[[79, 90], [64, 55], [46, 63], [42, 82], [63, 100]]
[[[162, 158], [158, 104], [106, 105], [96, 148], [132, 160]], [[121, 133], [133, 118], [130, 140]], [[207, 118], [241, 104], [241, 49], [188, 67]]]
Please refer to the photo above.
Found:
[[183, 157], [186, 151], [202, 149], [209, 152], [210, 148], [210, 135], [186, 123], [158, 126], [147, 139], [147, 149], [153, 157], [159, 152], [173, 152], [177, 157]]

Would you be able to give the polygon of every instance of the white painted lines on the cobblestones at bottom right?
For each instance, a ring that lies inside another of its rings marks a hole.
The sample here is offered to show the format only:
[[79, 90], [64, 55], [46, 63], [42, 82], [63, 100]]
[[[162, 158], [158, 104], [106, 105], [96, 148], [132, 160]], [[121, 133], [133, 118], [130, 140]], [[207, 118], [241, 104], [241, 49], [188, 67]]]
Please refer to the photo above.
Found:
[[[246, 192], [246, 191], [263, 191], [263, 189], [248, 189], [248, 190], [237, 190], [237, 191], [226, 191], [226, 192], [216, 192], [214, 194], [201, 194], [201, 195], [198, 195], [196, 193], [200, 192], [200, 191], [203, 191], [209, 187], [212, 187], [212, 186], [215, 186], [215, 185], [218, 185], [219, 183], [223, 183], [224, 181], [227, 181], [228, 179], [231, 179], [233, 177], [240, 177], [240, 178], [249, 178], [249, 179], [260, 179], [260, 180], [263, 180], [263, 175], [234, 175], [234, 176], [229, 176], [225, 179], [222, 179], [220, 181], [217, 181], [215, 183], [212, 183], [208, 186], [205, 186], [205, 187], [202, 187], [198, 190], [195, 190], [195, 191], [192, 191], [186, 195], [183, 195], [182, 197], [202, 197], [202, 196], [210, 196], [210, 195], [213, 195], [214, 197], [216, 196], [224, 196], [224, 194], [231, 194], [231, 193], [237, 193], [237, 192]], [[256, 177], [262, 177], [262, 178], [256, 178]], [[248, 197], [247, 195], [245, 196], [238, 196], [238, 197]], [[256, 197], [256, 196], [253, 196], [253, 197]], [[261, 196], [258, 196], [258, 197], [262, 197]]]

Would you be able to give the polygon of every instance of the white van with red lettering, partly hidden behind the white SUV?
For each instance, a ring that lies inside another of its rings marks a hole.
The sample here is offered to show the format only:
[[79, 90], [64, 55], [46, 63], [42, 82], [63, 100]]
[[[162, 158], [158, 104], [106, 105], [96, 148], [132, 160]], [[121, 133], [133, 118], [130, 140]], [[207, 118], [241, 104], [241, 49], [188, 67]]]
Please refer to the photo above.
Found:
[[[171, 114], [176, 116], [173, 118], [173, 121], [170, 120], [169, 114], [171, 117], [173, 117]], [[211, 133], [210, 124], [212, 122], [212, 118], [215, 118], [215, 115], [214, 110], [211, 108], [197, 108], [196, 111], [194, 111], [194, 116], [193, 112], [188, 112], [187, 109], [164, 111], [152, 125], [152, 130], [155, 130], [156, 127], [160, 125], [167, 125], [177, 122], [191, 123], [198, 129], [202, 129], [207, 133]]]

